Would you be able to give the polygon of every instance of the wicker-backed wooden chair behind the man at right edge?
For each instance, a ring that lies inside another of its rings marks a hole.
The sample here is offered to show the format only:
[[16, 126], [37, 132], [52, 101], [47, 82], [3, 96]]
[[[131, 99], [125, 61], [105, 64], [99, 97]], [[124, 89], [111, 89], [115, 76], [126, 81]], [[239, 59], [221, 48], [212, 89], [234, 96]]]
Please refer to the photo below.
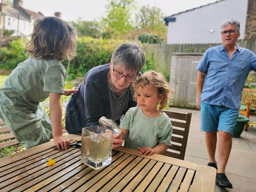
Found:
[[[250, 117], [250, 107], [251, 107], [251, 102], [256, 101], [256, 89], [246, 89], [244, 88], [242, 91], [242, 99], [241, 99], [241, 104], [246, 106], [246, 109], [240, 108], [239, 113], [243, 114], [245, 117], [249, 118]], [[249, 126], [249, 122], [247, 122], [244, 125], [243, 130], [247, 130]]]

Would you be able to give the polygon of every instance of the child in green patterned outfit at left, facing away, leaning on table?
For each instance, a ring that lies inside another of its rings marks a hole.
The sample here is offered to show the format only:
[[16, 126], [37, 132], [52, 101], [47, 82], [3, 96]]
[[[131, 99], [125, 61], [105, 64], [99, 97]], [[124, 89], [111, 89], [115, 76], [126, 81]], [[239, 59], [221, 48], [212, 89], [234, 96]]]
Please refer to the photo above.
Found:
[[[58, 149], [67, 149], [69, 140], [62, 137], [61, 95], [65, 90], [65, 68], [60, 61], [76, 55], [76, 30], [58, 17], [40, 17], [26, 45], [30, 55], [8, 76], [0, 89], [0, 118], [24, 147], [54, 139]], [[50, 117], [40, 102], [50, 99]]]

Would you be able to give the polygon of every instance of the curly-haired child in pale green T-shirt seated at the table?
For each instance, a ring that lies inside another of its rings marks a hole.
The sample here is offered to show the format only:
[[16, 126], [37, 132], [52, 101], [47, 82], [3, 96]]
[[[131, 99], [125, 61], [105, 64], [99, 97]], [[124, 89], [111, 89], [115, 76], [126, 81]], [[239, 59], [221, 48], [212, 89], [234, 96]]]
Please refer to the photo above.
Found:
[[125, 147], [138, 149], [139, 154], [161, 154], [171, 145], [173, 127], [161, 110], [172, 96], [172, 89], [162, 74], [152, 70], [139, 76], [132, 86], [138, 106], [130, 108], [122, 119], [121, 139]]

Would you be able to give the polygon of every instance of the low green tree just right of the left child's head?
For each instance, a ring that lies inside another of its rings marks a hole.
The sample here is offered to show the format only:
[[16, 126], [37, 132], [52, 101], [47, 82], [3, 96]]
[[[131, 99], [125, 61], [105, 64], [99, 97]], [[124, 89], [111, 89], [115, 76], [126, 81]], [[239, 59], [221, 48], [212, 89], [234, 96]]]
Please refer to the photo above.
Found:
[[100, 24], [97, 21], [82, 21], [78, 18], [78, 21], [71, 21], [73, 27], [77, 30], [78, 36], [89, 36], [93, 38], [100, 38]]

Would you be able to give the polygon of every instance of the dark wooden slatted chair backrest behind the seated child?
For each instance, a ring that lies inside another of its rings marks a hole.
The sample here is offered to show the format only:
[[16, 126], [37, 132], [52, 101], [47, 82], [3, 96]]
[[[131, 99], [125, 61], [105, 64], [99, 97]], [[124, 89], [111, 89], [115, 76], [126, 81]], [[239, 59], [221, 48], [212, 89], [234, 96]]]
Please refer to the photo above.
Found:
[[192, 113], [162, 111], [168, 115], [173, 126], [172, 145], [162, 155], [184, 160]]

